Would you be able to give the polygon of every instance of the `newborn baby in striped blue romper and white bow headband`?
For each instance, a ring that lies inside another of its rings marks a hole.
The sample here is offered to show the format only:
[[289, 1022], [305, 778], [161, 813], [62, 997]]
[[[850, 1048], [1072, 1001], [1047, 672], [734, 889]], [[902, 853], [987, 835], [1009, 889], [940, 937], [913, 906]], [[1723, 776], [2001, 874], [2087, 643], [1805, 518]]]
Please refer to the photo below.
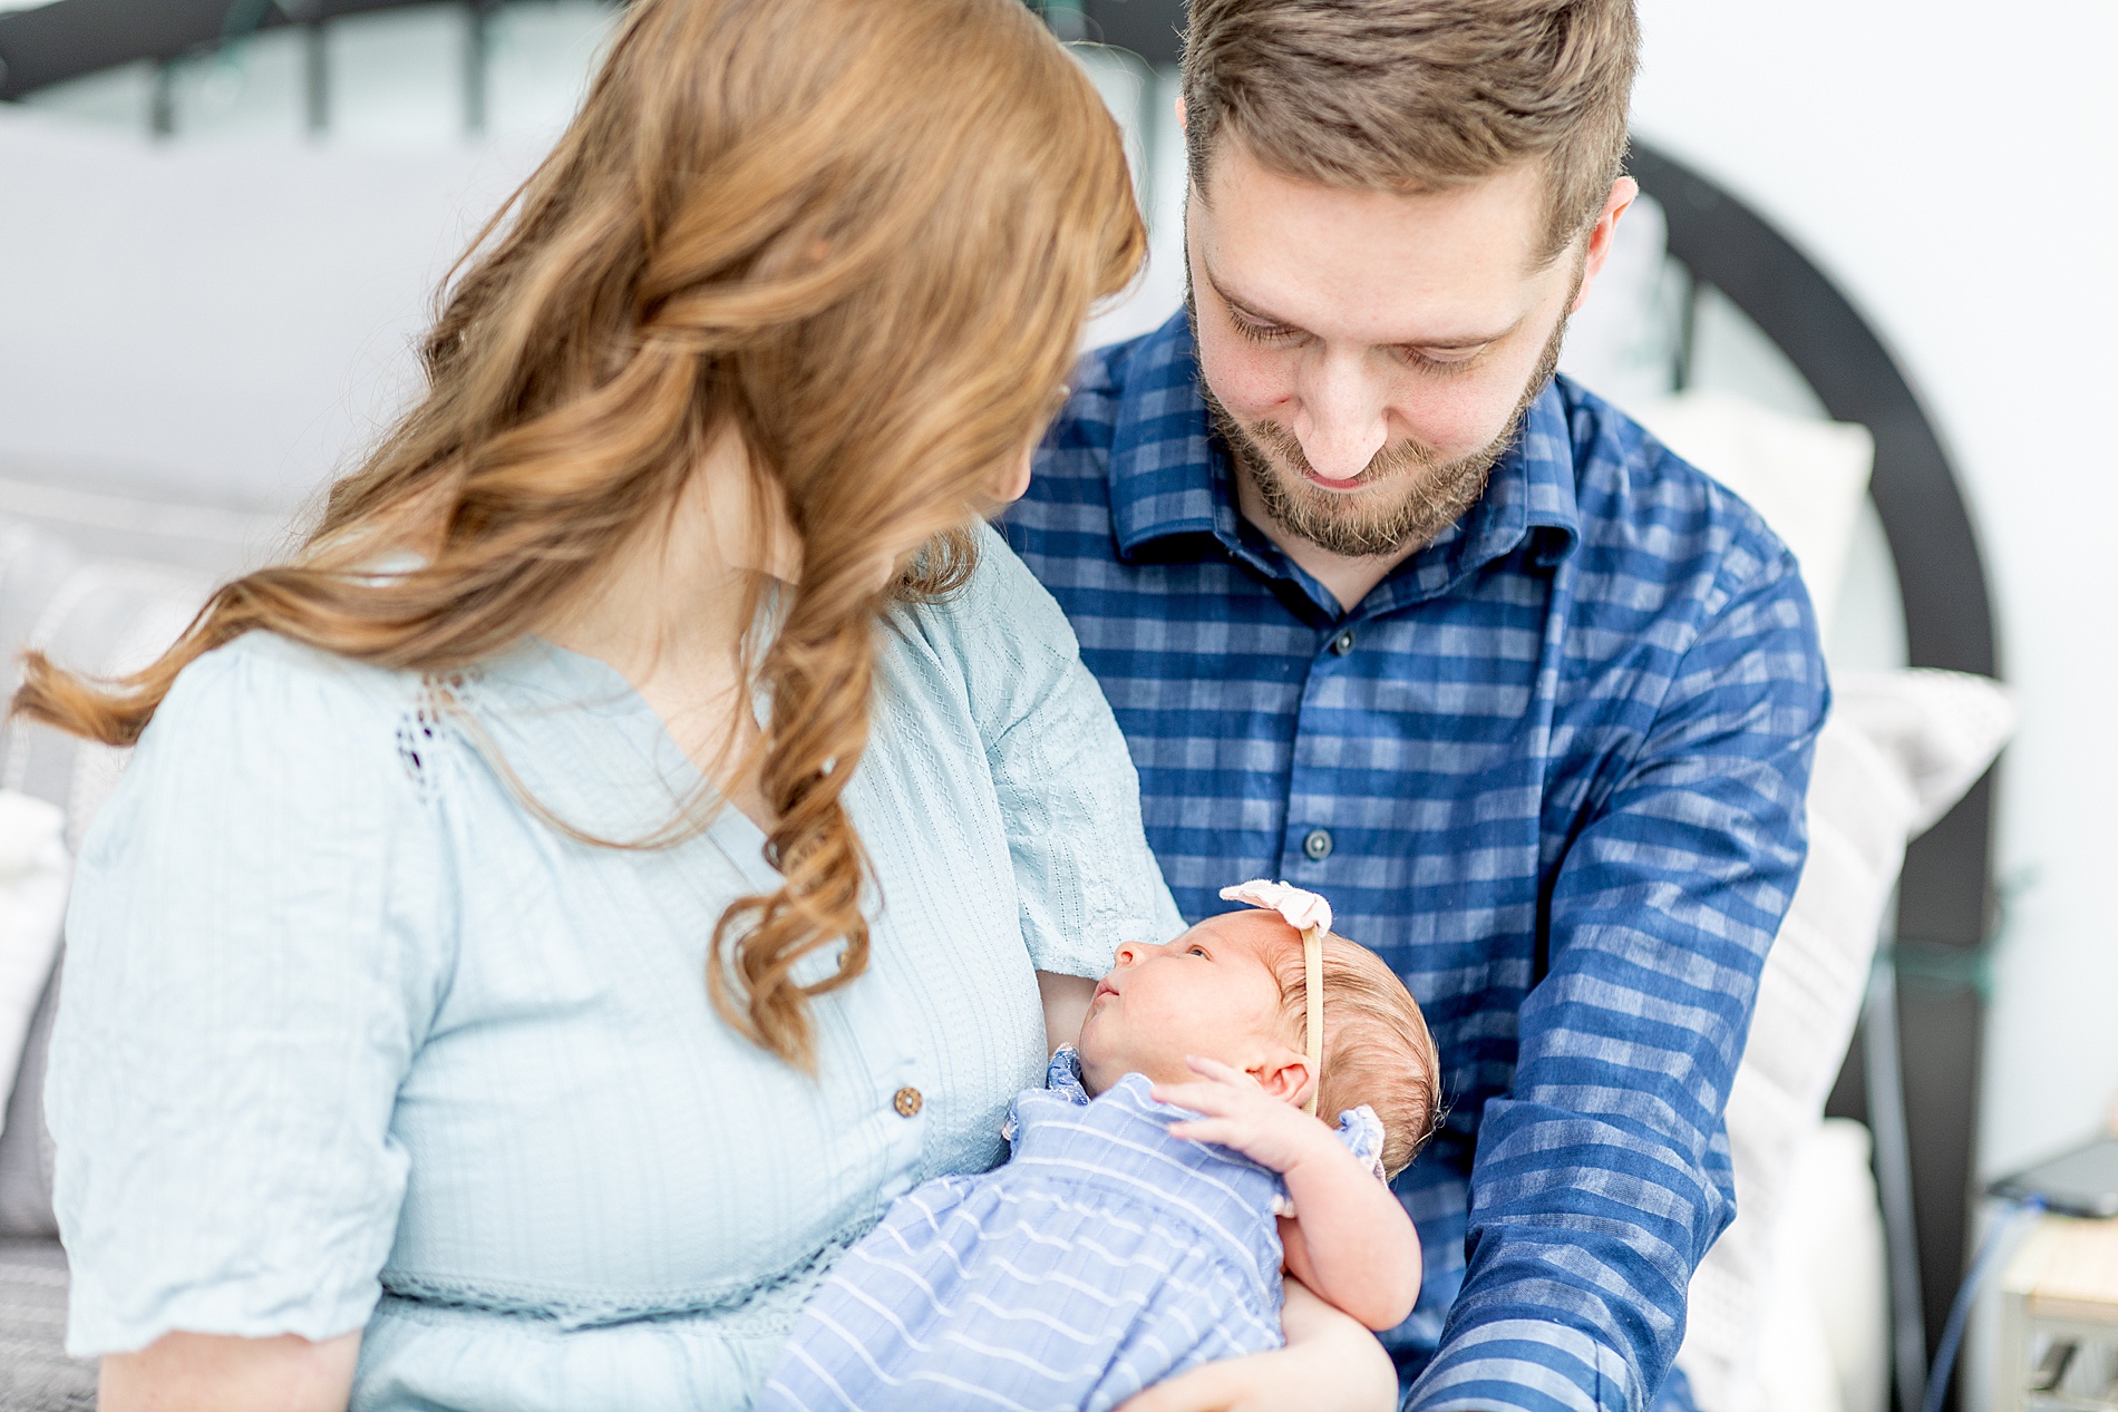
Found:
[[1419, 1238], [1385, 1181], [1436, 1122], [1419, 1006], [1315, 893], [1222, 898], [1260, 910], [1118, 948], [1078, 1048], [1017, 1094], [1008, 1162], [890, 1207], [760, 1412], [1101, 1412], [1277, 1348], [1284, 1268], [1372, 1329], [1411, 1313]]

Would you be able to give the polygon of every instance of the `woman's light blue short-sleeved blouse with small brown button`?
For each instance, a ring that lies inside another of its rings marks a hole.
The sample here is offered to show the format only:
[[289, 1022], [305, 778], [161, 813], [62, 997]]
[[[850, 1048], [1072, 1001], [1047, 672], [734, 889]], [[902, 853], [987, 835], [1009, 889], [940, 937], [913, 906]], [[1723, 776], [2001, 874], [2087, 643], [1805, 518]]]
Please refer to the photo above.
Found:
[[1031, 967], [1182, 927], [1065, 620], [983, 555], [883, 629], [873, 961], [813, 1003], [815, 1080], [705, 999], [714, 921], [777, 885], [756, 826], [538, 817], [640, 838], [699, 783], [616, 671], [530, 641], [436, 684], [263, 633], [193, 663], [68, 917], [68, 1348], [364, 1327], [360, 1410], [748, 1406], [841, 1249], [1000, 1158]]

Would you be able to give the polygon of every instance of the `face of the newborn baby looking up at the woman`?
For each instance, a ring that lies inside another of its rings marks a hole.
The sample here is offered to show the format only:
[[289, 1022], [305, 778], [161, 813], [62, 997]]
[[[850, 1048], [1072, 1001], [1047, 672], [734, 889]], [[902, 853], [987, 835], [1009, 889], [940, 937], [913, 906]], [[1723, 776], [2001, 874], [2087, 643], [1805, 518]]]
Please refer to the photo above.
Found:
[[1209, 917], [1163, 942], [1118, 946], [1080, 1027], [1080, 1071], [1091, 1092], [1127, 1073], [1184, 1084], [1190, 1056], [1237, 1069], [1286, 1050], [1279, 982], [1267, 963], [1292, 929], [1273, 912]]

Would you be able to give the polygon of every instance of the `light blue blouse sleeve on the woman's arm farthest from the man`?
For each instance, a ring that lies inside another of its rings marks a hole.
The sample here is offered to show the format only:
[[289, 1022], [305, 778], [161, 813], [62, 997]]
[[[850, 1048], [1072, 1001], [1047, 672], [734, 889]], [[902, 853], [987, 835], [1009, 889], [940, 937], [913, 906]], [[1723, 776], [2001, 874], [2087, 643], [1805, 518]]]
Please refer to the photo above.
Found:
[[47, 1086], [68, 1353], [322, 1340], [375, 1308], [392, 1107], [447, 961], [409, 694], [237, 639], [184, 669], [97, 815]]

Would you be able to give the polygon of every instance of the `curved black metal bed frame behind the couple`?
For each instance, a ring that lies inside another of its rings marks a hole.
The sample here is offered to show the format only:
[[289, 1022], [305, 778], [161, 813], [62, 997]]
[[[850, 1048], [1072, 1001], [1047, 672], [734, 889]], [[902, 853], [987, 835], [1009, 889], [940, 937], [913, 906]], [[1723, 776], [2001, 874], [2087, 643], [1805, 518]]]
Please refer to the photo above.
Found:
[[[169, 66], [233, 34], [421, 0], [55, 0], [0, 15], [0, 99], [89, 72], [157, 59]], [[430, 2], [430, 0], [428, 0]], [[1175, 64], [1182, 0], [1031, 0], [1065, 38], [1093, 38]], [[496, 0], [470, 0], [472, 61]], [[466, 83], [479, 127], [479, 76]], [[311, 95], [311, 123], [320, 125]], [[1870, 495], [1889, 536], [1915, 667], [1999, 675], [1993, 605], [1978, 538], [1951, 457], [1898, 360], [1853, 303], [1785, 235], [1728, 191], [1675, 159], [1635, 144], [1631, 171], [1669, 218], [1669, 252], [1694, 290], [1718, 288], [1794, 362], [1832, 417], [1874, 434]], [[1900, 946], [1974, 961], [1995, 923], [1991, 773], [1919, 838], [1898, 889]], [[1925, 972], [1946, 967], [1923, 967]], [[1968, 970], [1968, 965], [1966, 965]], [[1898, 991], [1904, 1109], [1919, 1230], [1921, 1304], [1936, 1334], [1966, 1266], [1974, 1202], [1974, 1137], [1985, 1006], [1970, 984]], [[1866, 1118], [1864, 1035], [1832, 1092], [1830, 1111]]]

